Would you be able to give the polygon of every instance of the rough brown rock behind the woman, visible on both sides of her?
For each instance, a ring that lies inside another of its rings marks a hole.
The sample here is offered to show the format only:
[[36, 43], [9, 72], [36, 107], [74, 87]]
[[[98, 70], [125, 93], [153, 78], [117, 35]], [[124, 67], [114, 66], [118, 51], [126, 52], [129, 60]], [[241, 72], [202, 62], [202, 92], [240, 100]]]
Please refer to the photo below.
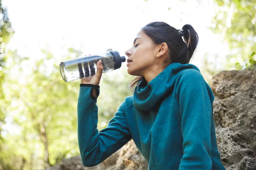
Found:
[[[216, 138], [227, 170], [256, 170], [256, 69], [221, 71], [212, 79]], [[95, 167], [80, 156], [64, 159], [50, 170], [147, 170], [133, 140]]]

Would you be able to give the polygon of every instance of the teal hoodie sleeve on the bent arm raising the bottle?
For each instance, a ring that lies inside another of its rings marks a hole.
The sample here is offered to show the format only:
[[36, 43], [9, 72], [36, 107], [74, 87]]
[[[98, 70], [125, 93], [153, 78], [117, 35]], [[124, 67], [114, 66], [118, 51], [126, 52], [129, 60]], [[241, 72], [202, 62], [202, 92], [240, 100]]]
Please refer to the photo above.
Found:
[[96, 88], [99, 96], [99, 86], [81, 84], [78, 97], [78, 143], [81, 161], [85, 167], [101, 163], [131, 139], [123, 109], [124, 102], [108, 126], [98, 131], [97, 97], [92, 95], [93, 88]]

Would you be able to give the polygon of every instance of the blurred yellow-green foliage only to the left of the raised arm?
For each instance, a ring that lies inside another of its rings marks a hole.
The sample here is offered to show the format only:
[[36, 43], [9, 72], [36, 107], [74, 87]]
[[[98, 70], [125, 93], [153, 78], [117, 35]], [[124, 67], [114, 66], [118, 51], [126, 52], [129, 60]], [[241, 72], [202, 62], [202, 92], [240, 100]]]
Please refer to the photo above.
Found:
[[[17, 51], [9, 51], [9, 67], [3, 83], [4, 106], [13, 119], [6, 124], [17, 126], [20, 133], [4, 136], [6, 141], [15, 142], [6, 143], [2, 153], [13, 152], [6, 162], [24, 159], [25, 169], [44, 169], [47, 163], [55, 164], [65, 156], [79, 154], [76, 139], [79, 83], [64, 82], [57, 60], [49, 51], [42, 52], [45, 58], [34, 62], [19, 56]], [[45, 152], [49, 157], [45, 158]], [[15, 165], [20, 167], [22, 162]]]

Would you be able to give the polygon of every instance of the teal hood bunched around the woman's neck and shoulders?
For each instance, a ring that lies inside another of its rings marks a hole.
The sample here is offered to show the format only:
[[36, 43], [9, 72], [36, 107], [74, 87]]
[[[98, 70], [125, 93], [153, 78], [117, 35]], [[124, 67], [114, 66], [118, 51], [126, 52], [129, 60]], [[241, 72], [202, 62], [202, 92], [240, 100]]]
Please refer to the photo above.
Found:
[[142, 79], [134, 89], [134, 107], [141, 111], [158, 109], [157, 105], [172, 93], [177, 77], [186, 69], [195, 69], [200, 72], [195, 65], [173, 62], [150, 82], [147, 83]]

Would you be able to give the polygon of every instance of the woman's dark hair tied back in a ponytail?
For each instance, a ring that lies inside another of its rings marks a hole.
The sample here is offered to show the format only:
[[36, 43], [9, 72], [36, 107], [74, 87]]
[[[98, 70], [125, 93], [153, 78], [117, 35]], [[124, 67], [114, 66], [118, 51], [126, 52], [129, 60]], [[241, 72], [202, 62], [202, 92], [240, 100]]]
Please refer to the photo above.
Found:
[[[184, 25], [181, 30], [177, 30], [164, 22], [152, 22], [141, 28], [141, 31], [150, 37], [155, 45], [166, 42], [171, 61], [166, 61], [164, 63], [166, 66], [173, 62], [189, 63], [198, 44], [198, 34], [189, 24]], [[134, 89], [143, 78], [143, 76], [138, 76], [133, 79], [129, 88]]]

